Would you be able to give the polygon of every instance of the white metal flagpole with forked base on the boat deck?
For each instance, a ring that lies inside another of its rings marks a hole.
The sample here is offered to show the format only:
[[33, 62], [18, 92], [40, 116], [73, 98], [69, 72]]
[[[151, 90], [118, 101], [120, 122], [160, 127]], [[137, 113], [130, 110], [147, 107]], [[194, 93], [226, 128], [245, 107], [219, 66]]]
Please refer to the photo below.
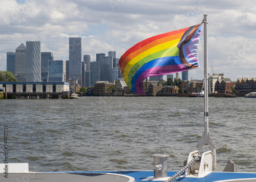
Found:
[[202, 138], [197, 143], [199, 150], [204, 145], [209, 145], [212, 148], [213, 161], [212, 170], [216, 168], [216, 146], [209, 134], [208, 120], [208, 15], [204, 14], [204, 133]]

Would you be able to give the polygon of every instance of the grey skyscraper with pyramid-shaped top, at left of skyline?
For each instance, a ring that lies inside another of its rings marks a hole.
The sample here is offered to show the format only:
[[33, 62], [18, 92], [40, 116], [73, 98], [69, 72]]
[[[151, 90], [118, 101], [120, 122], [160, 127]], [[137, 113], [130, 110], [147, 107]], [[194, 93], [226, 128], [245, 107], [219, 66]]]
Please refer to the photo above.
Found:
[[15, 51], [15, 74], [18, 81], [26, 81], [26, 46], [23, 43]]

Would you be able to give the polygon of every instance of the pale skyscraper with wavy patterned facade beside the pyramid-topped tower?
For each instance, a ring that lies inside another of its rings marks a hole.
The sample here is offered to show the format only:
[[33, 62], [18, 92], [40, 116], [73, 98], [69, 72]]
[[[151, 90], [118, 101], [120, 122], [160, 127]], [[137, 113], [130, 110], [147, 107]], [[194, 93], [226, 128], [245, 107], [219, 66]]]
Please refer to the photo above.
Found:
[[26, 82], [41, 82], [41, 42], [26, 42]]

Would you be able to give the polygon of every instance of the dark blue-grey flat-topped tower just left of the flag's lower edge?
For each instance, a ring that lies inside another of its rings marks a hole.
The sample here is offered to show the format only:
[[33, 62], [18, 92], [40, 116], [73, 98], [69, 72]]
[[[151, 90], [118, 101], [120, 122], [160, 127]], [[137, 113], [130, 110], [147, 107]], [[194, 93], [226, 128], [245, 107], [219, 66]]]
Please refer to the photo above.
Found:
[[102, 61], [102, 80], [112, 82], [112, 68], [113, 68], [113, 57], [112, 56], [106, 56], [103, 58]]

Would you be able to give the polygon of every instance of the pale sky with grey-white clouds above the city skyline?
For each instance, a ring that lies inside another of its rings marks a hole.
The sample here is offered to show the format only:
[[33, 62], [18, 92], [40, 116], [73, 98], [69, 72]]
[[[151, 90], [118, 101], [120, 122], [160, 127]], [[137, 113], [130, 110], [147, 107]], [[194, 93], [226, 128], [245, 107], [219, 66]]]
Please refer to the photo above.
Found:
[[[69, 59], [69, 37], [82, 37], [82, 55], [117, 58], [148, 37], [198, 24], [208, 14], [209, 73], [224, 73], [236, 81], [256, 77], [256, 6], [254, 0], [1, 0], [0, 70], [6, 53], [26, 41], [41, 41], [41, 51], [55, 60]], [[203, 34], [199, 45], [201, 68], [189, 80], [203, 79]], [[211, 70], [212, 66], [212, 70]]]

